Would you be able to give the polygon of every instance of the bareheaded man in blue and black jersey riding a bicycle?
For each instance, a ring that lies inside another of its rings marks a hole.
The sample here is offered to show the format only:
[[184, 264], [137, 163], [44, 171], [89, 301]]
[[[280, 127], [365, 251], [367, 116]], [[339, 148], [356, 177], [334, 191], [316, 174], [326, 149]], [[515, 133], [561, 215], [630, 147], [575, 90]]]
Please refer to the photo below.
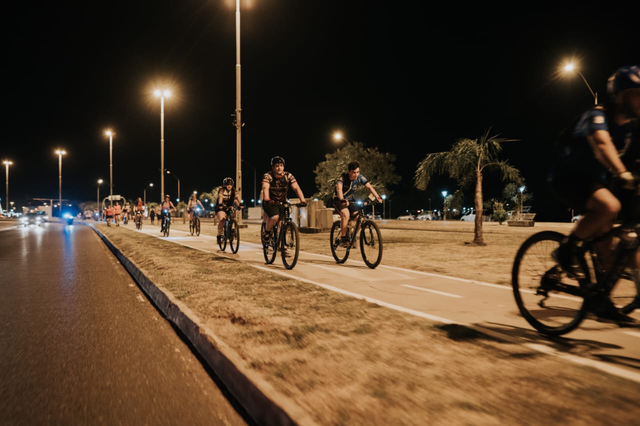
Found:
[[[355, 203], [355, 193], [358, 187], [361, 185], [369, 189], [369, 192], [378, 200], [382, 202], [382, 198], [378, 195], [374, 187], [371, 186], [369, 180], [363, 175], [360, 175], [360, 163], [357, 161], [349, 162], [347, 166], [347, 173], [342, 173], [335, 182], [335, 192], [333, 193], [333, 207], [340, 213], [340, 245], [343, 247], [349, 247], [349, 241], [347, 239], [347, 225], [349, 223], [349, 217], [355, 219], [360, 214], [360, 210]], [[355, 233], [358, 229], [354, 230]]]

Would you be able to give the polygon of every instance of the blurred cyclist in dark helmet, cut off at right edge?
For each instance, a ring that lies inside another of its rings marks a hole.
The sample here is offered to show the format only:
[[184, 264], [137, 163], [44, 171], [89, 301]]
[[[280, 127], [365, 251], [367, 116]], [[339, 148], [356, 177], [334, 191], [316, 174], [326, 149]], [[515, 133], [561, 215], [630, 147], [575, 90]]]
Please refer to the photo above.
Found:
[[[620, 155], [631, 143], [638, 143], [640, 118], [640, 67], [621, 67], [607, 82], [609, 102], [596, 105], [582, 113], [573, 123], [568, 136], [559, 141], [556, 163], [548, 175], [552, 192], [569, 207], [584, 209], [570, 235], [556, 252], [558, 263], [570, 276], [581, 278], [584, 271], [577, 262], [578, 246], [611, 230], [623, 205], [608, 186], [611, 177], [628, 191], [639, 191], [634, 177]], [[637, 206], [636, 206], [637, 209]], [[636, 212], [637, 214], [637, 212]], [[609, 242], [598, 246], [601, 257], [607, 259]], [[640, 288], [636, 253], [634, 280]], [[634, 322], [619, 312], [609, 298], [596, 298], [593, 311], [598, 317], [618, 322]]]

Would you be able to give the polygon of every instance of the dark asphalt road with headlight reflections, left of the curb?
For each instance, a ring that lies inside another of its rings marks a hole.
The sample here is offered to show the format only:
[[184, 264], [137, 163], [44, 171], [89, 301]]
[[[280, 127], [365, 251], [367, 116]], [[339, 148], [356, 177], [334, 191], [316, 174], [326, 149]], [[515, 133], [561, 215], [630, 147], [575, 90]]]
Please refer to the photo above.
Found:
[[247, 424], [90, 227], [15, 225], [0, 223], [0, 424]]

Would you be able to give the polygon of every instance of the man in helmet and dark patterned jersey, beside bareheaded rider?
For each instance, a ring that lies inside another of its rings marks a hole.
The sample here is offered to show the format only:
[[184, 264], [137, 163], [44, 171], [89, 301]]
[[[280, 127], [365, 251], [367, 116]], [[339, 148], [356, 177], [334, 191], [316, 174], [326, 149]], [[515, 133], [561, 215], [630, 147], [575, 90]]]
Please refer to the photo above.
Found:
[[301, 206], [307, 205], [307, 200], [305, 200], [296, 178], [288, 171], [284, 171], [284, 158], [273, 157], [271, 159], [271, 171], [264, 173], [262, 176], [263, 243], [269, 241], [273, 225], [280, 219], [280, 215], [284, 213], [284, 205], [282, 203], [287, 200], [289, 187], [298, 194]]

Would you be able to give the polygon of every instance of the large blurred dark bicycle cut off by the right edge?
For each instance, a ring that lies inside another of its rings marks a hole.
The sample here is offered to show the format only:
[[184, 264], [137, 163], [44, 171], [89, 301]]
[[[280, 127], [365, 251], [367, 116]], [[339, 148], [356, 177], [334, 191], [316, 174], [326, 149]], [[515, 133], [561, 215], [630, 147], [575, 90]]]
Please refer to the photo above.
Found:
[[[585, 276], [579, 280], [567, 276], [553, 256], [563, 233], [531, 235], [518, 249], [511, 271], [513, 294], [524, 319], [540, 333], [559, 336], [578, 327], [603, 292], [622, 313], [640, 308], [639, 290], [630, 272], [639, 233], [637, 222], [626, 222], [585, 241], [578, 256]], [[605, 268], [596, 245], [611, 237], [611, 267]]]

